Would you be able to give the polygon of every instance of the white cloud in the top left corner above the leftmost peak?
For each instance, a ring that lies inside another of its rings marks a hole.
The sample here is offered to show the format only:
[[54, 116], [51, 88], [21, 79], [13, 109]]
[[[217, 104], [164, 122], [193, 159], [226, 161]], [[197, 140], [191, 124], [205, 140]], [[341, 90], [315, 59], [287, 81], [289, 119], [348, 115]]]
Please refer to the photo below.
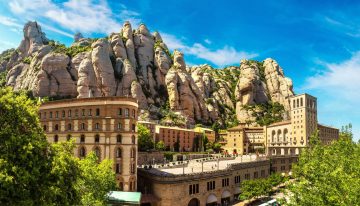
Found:
[[[50, 0], [34, 0], [31, 3], [14, 0], [9, 3], [9, 7], [13, 13], [26, 19], [46, 18], [73, 32], [111, 33], [121, 28], [116, 15], [104, 0], [69, 0], [60, 4]], [[139, 15], [127, 9], [120, 12], [122, 20], [130, 20], [134, 24], [140, 22]]]

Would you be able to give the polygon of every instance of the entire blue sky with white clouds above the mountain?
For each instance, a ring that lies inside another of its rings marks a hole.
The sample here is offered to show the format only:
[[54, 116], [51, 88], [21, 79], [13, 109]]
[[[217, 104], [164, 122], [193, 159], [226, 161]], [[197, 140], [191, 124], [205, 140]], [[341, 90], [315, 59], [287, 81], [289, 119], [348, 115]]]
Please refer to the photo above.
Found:
[[[31, 2], [31, 3], [30, 3]], [[353, 124], [360, 138], [360, 1], [0, 0], [0, 51], [17, 47], [28, 20], [70, 45], [75, 32], [102, 37], [125, 20], [159, 31], [190, 65], [278, 61], [296, 93], [318, 97], [319, 121]]]

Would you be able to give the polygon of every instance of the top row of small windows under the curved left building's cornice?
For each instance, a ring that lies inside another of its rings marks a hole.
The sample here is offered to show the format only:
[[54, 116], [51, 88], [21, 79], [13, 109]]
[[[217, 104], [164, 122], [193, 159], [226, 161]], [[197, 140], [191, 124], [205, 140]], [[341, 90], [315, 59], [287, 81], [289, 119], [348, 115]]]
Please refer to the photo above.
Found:
[[[119, 116], [122, 116], [122, 115], [123, 115], [123, 110], [124, 110], [124, 116], [125, 116], [125, 117], [129, 117], [129, 115], [130, 115], [130, 110], [129, 110], [128, 108], [126, 108], [126, 109], [119, 108], [119, 109], [118, 109], [118, 115], [119, 115]], [[59, 111], [55, 111], [54, 113], [53, 113], [53, 112], [49, 112], [49, 118], [50, 118], [50, 119], [53, 118], [53, 114], [54, 114], [55, 118], [59, 118], [60, 112], [59, 112]], [[92, 116], [92, 115], [93, 115], [93, 110], [92, 110], [92, 109], [88, 109], [88, 110], [87, 110], [87, 114], [88, 114], [88, 116]], [[67, 111], [67, 116], [68, 116], [68, 117], [72, 117], [72, 115], [73, 115], [73, 110], [68, 110], [68, 111]], [[131, 116], [132, 116], [133, 118], [135, 118], [135, 115], [136, 115], [136, 110], [135, 110], [135, 109], [131, 110]], [[75, 110], [74, 110], [74, 116], [75, 116], [75, 117], [78, 117], [78, 116], [79, 116], [79, 110], [78, 110], [78, 109], [75, 109]], [[81, 109], [81, 114], [80, 114], [80, 116], [83, 116], [83, 117], [86, 116], [86, 110], [85, 110], [85, 109]], [[96, 108], [96, 109], [95, 109], [95, 116], [97, 116], [97, 117], [100, 116], [100, 108]], [[47, 113], [46, 113], [46, 112], [39, 113], [39, 117], [40, 117], [40, 119], [46, 119], [46, 118], [47, 118]], [[66, 112], [65, 112], [65, 110], [62, 110], [62, 111], [61, 111], [61, 117], [62, 117], [62, 118], [65, 118], [65, 117], [66, 117]]]

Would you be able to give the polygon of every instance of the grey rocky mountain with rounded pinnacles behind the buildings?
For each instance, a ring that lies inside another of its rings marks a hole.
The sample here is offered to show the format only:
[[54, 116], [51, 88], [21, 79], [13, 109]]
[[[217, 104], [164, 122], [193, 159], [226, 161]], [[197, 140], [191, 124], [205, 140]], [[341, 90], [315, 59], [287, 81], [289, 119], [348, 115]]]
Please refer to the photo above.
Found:
[[244, 105], [269, 101], [289, 110], [292, 81], [273, 59], [241, 60], [240, 66], [223, 69], [187, 67], [183, 54], [171, 54], [161, 35], [144, 24], [133, 30], [125, 22], [119, 29], [101, 39], [77, 33], [66, 47], [28, 22], [19, 47], [1, 55], [4, 83], [36, 97], [132, 96], [141, 116], [161, 119], [168, 106], [188, 124], [246, 122], [252, 115]]

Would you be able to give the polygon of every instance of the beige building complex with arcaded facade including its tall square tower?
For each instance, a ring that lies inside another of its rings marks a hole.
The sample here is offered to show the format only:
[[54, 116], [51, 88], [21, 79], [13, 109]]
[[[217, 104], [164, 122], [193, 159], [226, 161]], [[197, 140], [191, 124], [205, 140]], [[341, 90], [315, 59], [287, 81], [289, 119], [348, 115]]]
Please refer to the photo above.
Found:
[[[228, 153], [248, 154], [264, 151], [272, 159], [274, 172], [289, 172], [310, 136], [319, 131], [323, 144], [339, 138], [339, 130], [318, 124], [317, 99], [308, 94], [289, 98], [289, 118], [264, 127], [240, 124], [227, 130], [224, 149]], [[261, 150], [259, 150], [262, 148]]]

